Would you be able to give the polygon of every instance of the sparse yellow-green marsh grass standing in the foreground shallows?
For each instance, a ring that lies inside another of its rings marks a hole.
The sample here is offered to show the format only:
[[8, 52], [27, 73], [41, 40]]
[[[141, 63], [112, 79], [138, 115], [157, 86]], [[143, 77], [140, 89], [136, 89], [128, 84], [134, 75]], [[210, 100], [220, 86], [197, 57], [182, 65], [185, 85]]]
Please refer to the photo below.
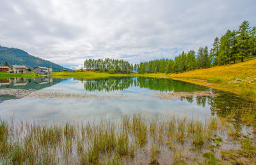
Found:
[[225, 119], [147, 119], [134, 113], [61, 126], [1, 119], [0, 164], [225, 164], [230, 151], [221, 155], [221, 147], [234, 139], [241, 148], [232, 153], [255, 162], [253, 140]]

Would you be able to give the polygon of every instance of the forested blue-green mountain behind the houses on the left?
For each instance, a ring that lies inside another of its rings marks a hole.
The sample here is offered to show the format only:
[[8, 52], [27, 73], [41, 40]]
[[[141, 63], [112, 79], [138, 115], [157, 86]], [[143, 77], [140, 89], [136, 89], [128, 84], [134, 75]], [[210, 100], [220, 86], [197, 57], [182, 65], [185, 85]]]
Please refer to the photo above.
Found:
[[[1, 47], [0, 45], [0, 64], [3, 65], [4, 61], [8, 62], [10, 68], [12, 68], [12, 65], [24, 65], [31, 69], [34, 69], [36, 66], [51, 66], [53, 71], [63, 71], [63, 69], [67, 69], [53, 62], [29, 55], [27, 52], [18, 48]], [[72, 71], [72, 69], [67, 70]]]

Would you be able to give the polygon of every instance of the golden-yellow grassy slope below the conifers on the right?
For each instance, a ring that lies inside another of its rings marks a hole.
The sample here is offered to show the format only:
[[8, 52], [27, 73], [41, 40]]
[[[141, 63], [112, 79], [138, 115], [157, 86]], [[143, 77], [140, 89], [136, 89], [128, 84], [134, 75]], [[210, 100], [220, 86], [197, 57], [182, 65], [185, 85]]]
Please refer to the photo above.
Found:
[[168, 77], [256, 99], [256, 59], [227, 66], [196, 69]]

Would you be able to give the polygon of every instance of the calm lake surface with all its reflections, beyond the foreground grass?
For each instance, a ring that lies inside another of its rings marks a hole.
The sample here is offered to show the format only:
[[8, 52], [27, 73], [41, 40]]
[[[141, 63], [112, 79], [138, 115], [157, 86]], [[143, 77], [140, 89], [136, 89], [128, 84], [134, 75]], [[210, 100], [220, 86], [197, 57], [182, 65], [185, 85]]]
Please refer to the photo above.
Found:
[[[211, 91], [217, 96], [160, 99], [157, 93]], [[50, 97], [54, 94], [54, 97]], [[40, 95], [37, 97], [36, 95]], [[243, 97], [200, 85], [158, 78], [75, 78], [0, 79], [0, 116], [36, 122], [62, 123], [141, 112], [145, 116], [188, 117], [205, 120], [225, 117], [252, 108]]]

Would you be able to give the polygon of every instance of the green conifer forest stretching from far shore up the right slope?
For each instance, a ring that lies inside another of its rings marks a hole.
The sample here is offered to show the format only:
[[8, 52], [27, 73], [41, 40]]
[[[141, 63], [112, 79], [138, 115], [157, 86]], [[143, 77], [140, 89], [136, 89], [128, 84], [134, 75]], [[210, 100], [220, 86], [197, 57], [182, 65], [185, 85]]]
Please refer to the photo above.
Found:
[[115, 73], [182, 73], [194, 69], [210, 68], [225, 64], [243, 62], [244, 59], [256, 57], [256, 27], [250, 27], [246, 20], [239, 29], [228, 30], [220, 38], [216, 37], [212, 48], [200, 47], [197, 52], [182, 52], [172, 59], [158, 59], [140, 64], [115, 59], [86, 59], [84, 68]]

